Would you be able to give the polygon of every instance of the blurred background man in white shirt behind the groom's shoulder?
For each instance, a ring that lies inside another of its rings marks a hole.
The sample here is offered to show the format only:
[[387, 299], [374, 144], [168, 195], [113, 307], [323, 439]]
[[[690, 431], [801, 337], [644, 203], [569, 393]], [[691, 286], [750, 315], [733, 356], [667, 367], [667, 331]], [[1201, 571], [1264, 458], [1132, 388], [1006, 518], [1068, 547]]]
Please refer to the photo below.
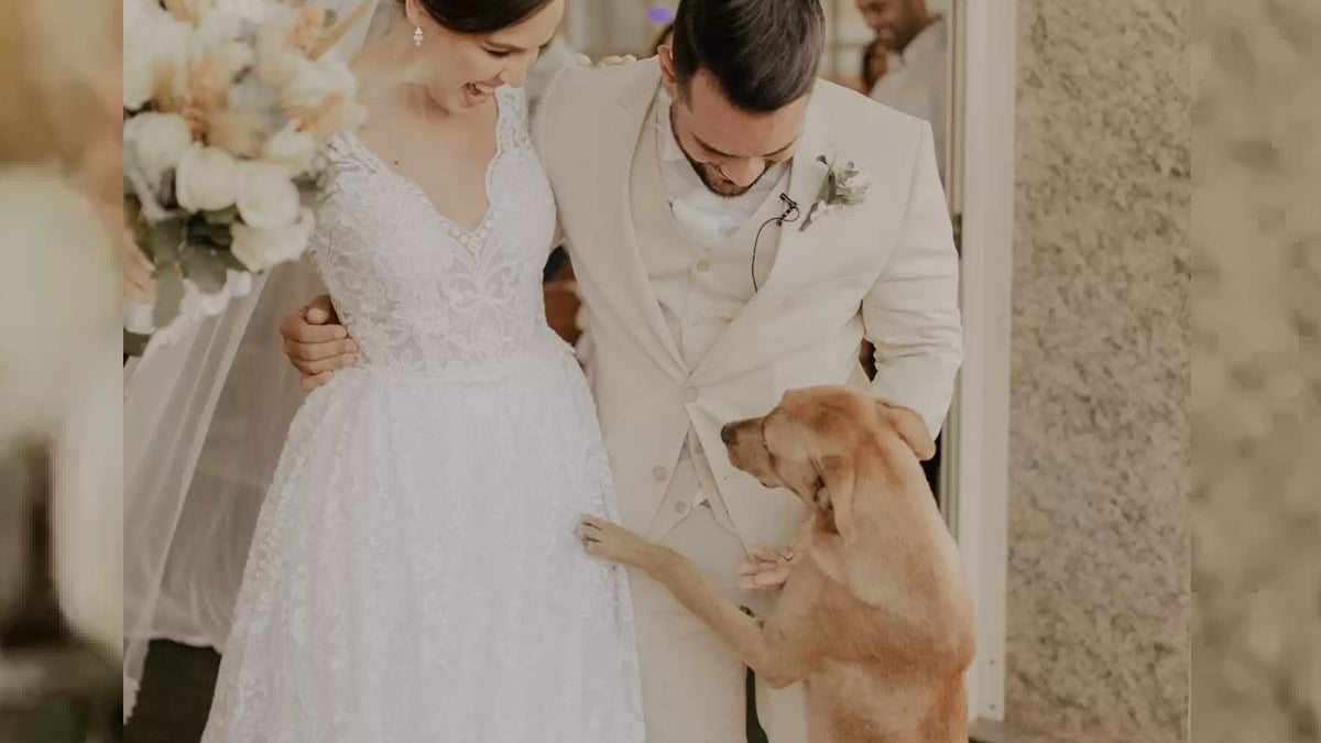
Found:
[[[927, 0], [857, 0], [857, 9], [888, 50], [869, 87], [873, 100], [930, 122], [942, 177], [950, 86], [950, 28]], [[869, 62], [868, 62], [869, 63]]]

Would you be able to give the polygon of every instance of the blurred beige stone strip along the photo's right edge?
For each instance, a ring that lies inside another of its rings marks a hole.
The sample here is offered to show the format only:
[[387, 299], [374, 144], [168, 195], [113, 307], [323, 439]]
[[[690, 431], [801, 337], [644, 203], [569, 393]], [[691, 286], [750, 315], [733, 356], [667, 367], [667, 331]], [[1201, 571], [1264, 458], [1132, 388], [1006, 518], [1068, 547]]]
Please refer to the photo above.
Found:
[[1321, 3], [1194, 21], [1194, 739], [1316, 743]]

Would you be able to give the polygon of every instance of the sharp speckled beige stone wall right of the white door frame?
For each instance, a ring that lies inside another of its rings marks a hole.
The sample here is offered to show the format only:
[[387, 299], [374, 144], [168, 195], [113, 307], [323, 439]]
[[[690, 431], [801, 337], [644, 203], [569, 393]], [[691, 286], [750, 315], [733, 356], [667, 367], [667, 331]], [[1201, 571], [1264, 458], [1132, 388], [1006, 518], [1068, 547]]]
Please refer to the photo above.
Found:
[[1018, 0], [1007, 719], [1188, 739], [1188, 0]]

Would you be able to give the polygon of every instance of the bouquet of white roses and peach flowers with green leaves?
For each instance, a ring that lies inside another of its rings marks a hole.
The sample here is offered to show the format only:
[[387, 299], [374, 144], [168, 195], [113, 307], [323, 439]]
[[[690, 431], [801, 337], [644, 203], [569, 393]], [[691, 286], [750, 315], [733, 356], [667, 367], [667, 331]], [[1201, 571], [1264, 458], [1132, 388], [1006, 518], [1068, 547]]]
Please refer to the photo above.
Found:
[[303, 254], [328, 184], [321, 149], [365, 119], [353, 73], [324, 57], [342, 33], [334, 13], [243, 8], [124, 3], [124, 225], [156, 279], [153, 305], [125, 305], [131, 356]]

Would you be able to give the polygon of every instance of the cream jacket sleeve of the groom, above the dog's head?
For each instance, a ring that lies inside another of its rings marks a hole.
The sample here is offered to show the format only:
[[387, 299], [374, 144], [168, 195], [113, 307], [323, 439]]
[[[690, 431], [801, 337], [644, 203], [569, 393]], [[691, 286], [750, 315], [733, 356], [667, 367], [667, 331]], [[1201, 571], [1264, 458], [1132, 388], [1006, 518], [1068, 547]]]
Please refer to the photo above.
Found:
[[863, 300], [863, 324], [876, 346], [872, 394], [915, 411], [934, 438], [963, 364], [963, 321], [959, 256], [926, 123], [898, 241]]

